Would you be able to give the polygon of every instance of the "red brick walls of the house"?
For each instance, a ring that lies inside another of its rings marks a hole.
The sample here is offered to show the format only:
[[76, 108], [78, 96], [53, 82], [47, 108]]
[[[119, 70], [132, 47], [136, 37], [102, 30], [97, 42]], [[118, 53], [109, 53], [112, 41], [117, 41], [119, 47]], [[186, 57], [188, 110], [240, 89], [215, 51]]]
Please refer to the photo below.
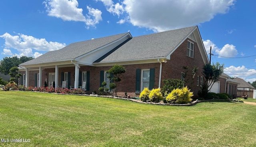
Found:
[[[186, 76], [186, 84], [188, 85], [191, 91], [194, 92], [194, 95], [197, 95], [198, 90], [200, 89], [197, 86], [197, 77], [203, 76], [202, 66], [204, 62], [202, 60], [202, 56], [200, 54], [198, 45], [196, 42], [189, 40], [190, 42], [194, 43], [194, 58], [190, 58], [187, 56], [187, 41], [185, 40], [170, 56], [170, 60], [166, 63], [162, 63], [162, 80], [163, 79], [181, 79], [181, 74], [184, 72], [182, 66], [188, 66], [188, 75]], [[117, 63], [118, 64], [118, 63]], [[198, 71], [192, 79], [192, 68], [196, 66], [198, 67]], [[90, 71], [90, 89], [87, 91], [88, 94], [92, 93], [93, 91], [98, 92], [98, 88], [100, 87], [100, 71], [109, 70], [111, 66], [103, 66], [103, 67], [93, 67], [93, 66], [81, 66], [80, 71], [86, 72]], [[127, 92], [128, 95], [134, 97], [135, 90], [136, 90], [136, 70], [137, 69], [155, 69], [155, 77], [154, 77], [154, 88], [158, 88], [159, 82], [159, 73], [160, 73], [160, 63], [152, 63], [152, 64], [134, 64], [134, 65], [124, 65], [126, 72], [120, 76], [121, 81], [118, 82], [118, 93], [119, 96], [124, 96], [124, 93]], [[30, 71], [30, 78], [29, 78], [29, 86], [35, 86], [35, 73], [39, 71]], [[55, 68], [44, 69], [42, 70], [42, 86], [44, 86], [44, 81], [47, 78], [48, 80], [48, 73], [54, 73]], [[61, 72], [70, 72], [70, 85], [74, 85], [74, 74], [75, 68], [74, 67], [67, 67], [67, 68], [59, 68], [59, 75], [58, 75], [58, 85], [61, 85]], [[25, 72], [20, 72], [21, 74], [25, 74]], [[162, 81], [161, 80], [161, 81]], [[48, 83], [48, 81], [47, 81]], [[221, 82], [222, 83], [222, 82]], [[224, 83], [224, 82], [223, 82]], [[163, 86], [163, 82], [161, 82], [161, 87]], [[222, 85], [221, 85], [222, 86]], [[139, 93], [137, 93], [138, 95]]]

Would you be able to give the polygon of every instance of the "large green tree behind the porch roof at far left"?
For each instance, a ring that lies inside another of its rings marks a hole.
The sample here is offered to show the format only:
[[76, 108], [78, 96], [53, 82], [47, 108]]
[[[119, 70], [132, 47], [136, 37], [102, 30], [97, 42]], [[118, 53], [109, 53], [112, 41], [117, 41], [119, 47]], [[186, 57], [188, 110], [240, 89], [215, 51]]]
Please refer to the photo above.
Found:
[[8, 75], [12, 67], [18, 67], [19, 64], [22, 64], [32, 59], [34, 58], [26, 57], [26, 56], [22, 56], [20, 58], [18, 58], [17, 56], [4, 57], [4, 59], [0, 61], [1, 62], [0, 72], [5, 75]]

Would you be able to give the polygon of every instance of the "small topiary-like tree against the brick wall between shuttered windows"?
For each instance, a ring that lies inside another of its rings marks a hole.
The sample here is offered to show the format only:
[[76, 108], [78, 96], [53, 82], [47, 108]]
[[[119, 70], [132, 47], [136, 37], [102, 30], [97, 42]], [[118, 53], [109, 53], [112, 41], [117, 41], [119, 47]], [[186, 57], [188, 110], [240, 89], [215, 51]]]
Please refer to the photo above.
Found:
[[121, 81], [120, 74], [125, 73], [125, 68], [116, 64], [112, 68], [110, 68], [107, 73], [110, 74], [110, 76], [108, 76], [111, 82], [109, 87], [113, 89], [114, 95], [117, 96], [117, 82]]

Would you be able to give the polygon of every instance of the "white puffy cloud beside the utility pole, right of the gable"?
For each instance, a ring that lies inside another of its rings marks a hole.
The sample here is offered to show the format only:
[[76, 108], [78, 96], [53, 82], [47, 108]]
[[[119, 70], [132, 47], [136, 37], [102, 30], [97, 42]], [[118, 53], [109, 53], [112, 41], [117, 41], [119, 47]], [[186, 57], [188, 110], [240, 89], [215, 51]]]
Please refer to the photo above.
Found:
[[210, 53], [210, 46], [212, 46], [212, 54], [216, 54], [222, 57], [235, 57], [236, 55], [238, 55], [236, 46], [232, 44], [226, 44], [222, 48], [218, 48], [211, 40], [203, 40], [203, 43], [207, 54]]

